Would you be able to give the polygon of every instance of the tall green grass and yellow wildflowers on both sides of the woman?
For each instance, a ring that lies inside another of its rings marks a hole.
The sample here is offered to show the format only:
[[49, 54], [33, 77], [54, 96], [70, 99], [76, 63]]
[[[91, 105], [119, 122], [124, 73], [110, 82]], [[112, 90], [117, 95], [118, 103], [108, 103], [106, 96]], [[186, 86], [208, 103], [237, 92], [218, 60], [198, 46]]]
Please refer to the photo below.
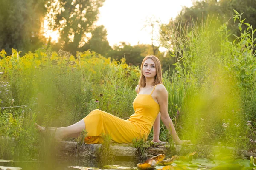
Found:
[[[250, 150], [256, 147], [255, 30], [235, 13], [240, 36], [229, 34], [227, 23], [217, 25], [209, 16], [192, 28], [167, 28], [172, 46], [163, 44], [178, 62], [174, 73], [163, 79], [168, 112], [181, 139]], [[248, 28], [242, 30], [242, 24]], [[134, 113], [140, 70], [125, 59], [111, 61], [91, 51], [73, 56], [44, 47], [24, 56], [14, 49], [12, 55], [1, 51], [0, 56], [0, 159], [50, 154], [35, 122], [67, 126], [93, 109], [121, 118]], [[167, 130], [161, 126], [160, 131], [166, 141]]]

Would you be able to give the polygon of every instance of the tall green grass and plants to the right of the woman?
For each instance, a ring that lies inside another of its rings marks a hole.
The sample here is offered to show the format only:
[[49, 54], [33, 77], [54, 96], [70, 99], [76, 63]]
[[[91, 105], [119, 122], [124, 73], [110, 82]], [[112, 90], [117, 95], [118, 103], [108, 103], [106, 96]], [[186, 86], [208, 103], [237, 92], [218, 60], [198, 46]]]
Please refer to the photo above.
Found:
[[[251, 105], [255, 98], [250, 93], [255, 91], [256, 30], [235, 13], [239, 36], [230, 33], [227, 24], [216, 26], [209, 16], [189, 28], [166, 27], [169, 38], [162, 43], [177, 63], [171, 78], [164, 74], [164, 84], [169, 92], [168, 111], [181, 136], [198, 144], [252, 149], [255, 136], [246, 124], [255, 117]], [[230, 41], [230, 36], [235, 40]]]

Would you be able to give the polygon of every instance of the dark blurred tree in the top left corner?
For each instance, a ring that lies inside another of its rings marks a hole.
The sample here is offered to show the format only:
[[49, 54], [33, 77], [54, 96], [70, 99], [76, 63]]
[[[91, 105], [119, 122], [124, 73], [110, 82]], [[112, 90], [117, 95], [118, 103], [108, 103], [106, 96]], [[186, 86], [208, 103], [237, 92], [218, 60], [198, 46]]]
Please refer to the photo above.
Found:
[[0, 49], [32, 51], [41, 45], [45, 0], [0, 1]]

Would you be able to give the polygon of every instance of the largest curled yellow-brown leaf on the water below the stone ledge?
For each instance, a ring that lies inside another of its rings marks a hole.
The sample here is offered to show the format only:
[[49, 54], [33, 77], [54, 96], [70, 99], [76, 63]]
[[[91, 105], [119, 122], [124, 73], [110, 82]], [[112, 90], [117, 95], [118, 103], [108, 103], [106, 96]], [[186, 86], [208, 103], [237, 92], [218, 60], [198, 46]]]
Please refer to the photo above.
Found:
[[164, 154], [159, 154], [153, 156], [152, 158], [147, 159], [144, 163], [137, 164], [137, 167], [140, 169], [154, 169], [163, 159], [165, 158]]

